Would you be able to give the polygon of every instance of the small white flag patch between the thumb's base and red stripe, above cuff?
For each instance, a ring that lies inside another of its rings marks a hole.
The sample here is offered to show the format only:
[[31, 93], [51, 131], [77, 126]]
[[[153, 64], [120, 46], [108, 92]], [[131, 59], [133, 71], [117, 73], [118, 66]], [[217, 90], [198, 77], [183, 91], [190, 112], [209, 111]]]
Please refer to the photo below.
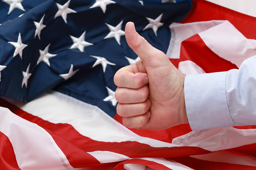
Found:
[[190, 60], [180, 62], [179, 70], [186, 75], [205, 73], [205, 71], [201, 67], [199, 67], [196, 63]]

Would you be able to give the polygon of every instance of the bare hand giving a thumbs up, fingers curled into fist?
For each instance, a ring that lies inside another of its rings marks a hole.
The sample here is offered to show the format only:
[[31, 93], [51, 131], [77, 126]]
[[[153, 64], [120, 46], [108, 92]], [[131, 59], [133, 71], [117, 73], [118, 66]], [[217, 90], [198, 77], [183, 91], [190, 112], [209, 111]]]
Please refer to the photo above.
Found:
[[152, 47], [129, 22], [125, 38], [141, 58], [114, 76], [117, 114], [129, 128], [158, 130], [188, 123], [182, 74], [166, 55]]

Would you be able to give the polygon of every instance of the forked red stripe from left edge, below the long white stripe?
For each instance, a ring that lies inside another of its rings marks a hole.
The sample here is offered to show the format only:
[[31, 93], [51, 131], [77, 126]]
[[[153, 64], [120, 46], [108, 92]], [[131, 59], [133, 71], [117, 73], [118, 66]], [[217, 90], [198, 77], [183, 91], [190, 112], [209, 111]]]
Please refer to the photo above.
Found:
[[68, 161], [73, 167], [84, 167], [100, 165], [99, 161], [93, 158], [86, 152], [96, 150], [112, 151], [124, 154], [129, 157], [176, 157], [187, 156], [194, 154], [204, 154], [210, 151], [204, 150], [199, 147], [151, 147], [147, 144], [139, 143], [136, 141], [125, 142], [101, 142], [95, 141], [89, 137], [83, 136], [78, 133], [69, 124], [54, 124], [45, 121], [39, 117], [33, 116], [18, 107], [0, 99], [0, 105], [9, 108], [18, 116], [34, 122], [47, 130], [66, 155]]

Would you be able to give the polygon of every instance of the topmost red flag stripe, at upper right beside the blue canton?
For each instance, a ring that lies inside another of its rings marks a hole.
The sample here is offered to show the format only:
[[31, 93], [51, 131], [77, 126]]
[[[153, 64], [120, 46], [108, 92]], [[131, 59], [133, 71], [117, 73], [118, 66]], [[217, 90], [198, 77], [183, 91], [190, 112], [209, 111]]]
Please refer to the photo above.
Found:
[[218, 6], [205, 0], [193, 0], [193, 7], [189, 15], [181, 23], [199, 21], [228, 20], [246, 38], [256, 39], [256, 20], [236, 11]]

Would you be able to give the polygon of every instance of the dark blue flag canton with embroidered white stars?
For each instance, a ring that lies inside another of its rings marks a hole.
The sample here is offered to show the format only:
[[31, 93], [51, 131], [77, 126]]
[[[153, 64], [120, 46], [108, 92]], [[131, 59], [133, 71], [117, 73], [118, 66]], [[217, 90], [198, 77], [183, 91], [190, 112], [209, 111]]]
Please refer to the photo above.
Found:
[[2, 0], [0, 94], [29, 102], [54, 89], [113, 117], [114, 74], [139, 59], [125, 41], [125, 24], [134, 22], [141, 36], [166, 52], [169, 25], [191, 7], [189, 0]]

